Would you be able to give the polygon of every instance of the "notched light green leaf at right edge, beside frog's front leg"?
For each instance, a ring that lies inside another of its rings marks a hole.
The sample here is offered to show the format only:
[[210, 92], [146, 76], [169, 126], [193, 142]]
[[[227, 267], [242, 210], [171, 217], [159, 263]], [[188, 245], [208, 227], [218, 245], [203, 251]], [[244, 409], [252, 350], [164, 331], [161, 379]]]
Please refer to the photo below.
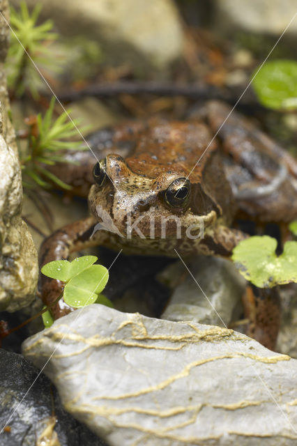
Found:
[[284, 244], [275, 254], [277, 241], [269, 236], [254, 236], [234, 248], [231, 259], [245, 279], [259, 288], [297, 282], [297, 242]]

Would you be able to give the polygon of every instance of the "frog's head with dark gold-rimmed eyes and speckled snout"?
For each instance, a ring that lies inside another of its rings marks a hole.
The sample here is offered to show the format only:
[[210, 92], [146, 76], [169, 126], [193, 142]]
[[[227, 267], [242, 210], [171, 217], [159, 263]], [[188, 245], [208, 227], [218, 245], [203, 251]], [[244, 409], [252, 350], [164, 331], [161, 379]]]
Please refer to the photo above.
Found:
[[158, 166], [156, 171], [149, 156], [143, 158], [142, 171], [135, 168], [135, 158], [133, 164], [119, 155], [96, 163], [89, 206], [101, 229], [125, 238], [160, 240], [184, 238], [190, 226], [192, 235], [201, 233], [215, 222], [218, 208], [200, 183], [191, 184], [182, 167]]

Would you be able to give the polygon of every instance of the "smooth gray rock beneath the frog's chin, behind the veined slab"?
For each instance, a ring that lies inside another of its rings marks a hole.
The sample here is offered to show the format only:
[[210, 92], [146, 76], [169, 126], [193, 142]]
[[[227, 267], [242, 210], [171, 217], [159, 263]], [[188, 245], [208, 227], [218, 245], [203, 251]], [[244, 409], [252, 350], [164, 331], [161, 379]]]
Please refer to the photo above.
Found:
[[189, 263], [189, 269], [208, 299], [185, 270], [185, 266], [181, 263], [169, 266], [160, 275], [162, 282], [170, 286], [176, 277], [183, 279], [183, 282], [172, 283], [174, 291], [162, 319], [195, 321], [220, 327], [229, 325], [234, 320], [234, 312], [241, 308], [245, 279], [231, 261], [215, 257], [198, 256]]

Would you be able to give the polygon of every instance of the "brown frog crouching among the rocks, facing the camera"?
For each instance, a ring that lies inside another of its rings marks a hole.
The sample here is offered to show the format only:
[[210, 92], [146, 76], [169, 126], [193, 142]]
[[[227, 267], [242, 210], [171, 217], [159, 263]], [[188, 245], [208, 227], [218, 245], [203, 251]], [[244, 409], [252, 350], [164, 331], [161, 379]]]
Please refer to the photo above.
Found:
[[[93, 245], [128, 254], [229, 256], [245, 238], [231, 228], [238, 212], [260, 222], [296, 219], [296, 160], [236, 112], [213, 139], [229, 111], [211, 101], [189, 121], [100, 130], [89, 137], [93, 154], [68, 153], [78, 165], [52, 169], [79, 195], [91, 186], [92, 216], [47, 238], [41, 266]], [[43, 277], [41, 292], [50, 305], [61, 283]], [[61, 301], [54, 316], [69, 310]], [[273, 312], [277, 319], [277, 305]]]

